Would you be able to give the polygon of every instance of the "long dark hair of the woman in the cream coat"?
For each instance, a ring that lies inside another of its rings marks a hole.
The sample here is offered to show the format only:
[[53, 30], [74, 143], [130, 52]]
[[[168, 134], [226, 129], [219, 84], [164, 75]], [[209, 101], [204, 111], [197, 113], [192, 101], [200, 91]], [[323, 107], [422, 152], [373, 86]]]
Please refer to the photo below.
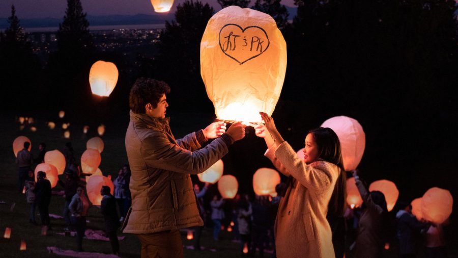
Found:
[[339, 168], [339, 177], [335, 183], [331, 200], [328, 204], [328, 217], [341, 217], [346, 209], [347, 174], [340, 150], [340, 141], [331, 128], [319, 127], [308, 132], [318, 146], [318, 159], [335, 164]]

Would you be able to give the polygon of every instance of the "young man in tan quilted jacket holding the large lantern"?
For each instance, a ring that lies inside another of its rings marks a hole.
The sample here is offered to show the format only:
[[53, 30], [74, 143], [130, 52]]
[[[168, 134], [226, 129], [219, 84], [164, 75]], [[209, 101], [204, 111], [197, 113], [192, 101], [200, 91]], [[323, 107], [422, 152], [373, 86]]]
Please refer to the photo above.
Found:
[[245, 136], [240, 122], [227, 132], [224, 122], [214, 122], [176, 140], [165, 118], [169, 92], [164, 82], [140, 78], [129, 96], [125, 143], [132, 206], [123, 228], [124, 233], [138, 236], [142, 258], [183, 257], [179, 229], [204, 224], [190, 174], [204, 172], [227, 153], [229, 145]]

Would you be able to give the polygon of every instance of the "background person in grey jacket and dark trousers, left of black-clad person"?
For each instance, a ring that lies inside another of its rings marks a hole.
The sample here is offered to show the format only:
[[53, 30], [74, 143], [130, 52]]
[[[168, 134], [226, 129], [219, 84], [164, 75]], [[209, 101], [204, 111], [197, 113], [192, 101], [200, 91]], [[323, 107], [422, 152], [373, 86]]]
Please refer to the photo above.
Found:
[[72, 224], [76, 229], [77, 250], [78, 252], [82, 252], [82, 239], [86, 231], [86, 215], [89, 210], [89, 200], [88, 197], [84, 195], [82, 186], [78, 186], [76, 189], [76, 194], [73, 195], [72, 201], [69, 204], [69, 210], [72, 214]]

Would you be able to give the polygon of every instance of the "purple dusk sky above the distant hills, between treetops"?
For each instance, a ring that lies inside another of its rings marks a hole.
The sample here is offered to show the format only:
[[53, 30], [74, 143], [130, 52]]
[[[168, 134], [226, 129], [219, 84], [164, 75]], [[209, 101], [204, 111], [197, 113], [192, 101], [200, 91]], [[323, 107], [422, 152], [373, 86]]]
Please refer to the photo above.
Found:
[[[216, 0], [201, 0], [209, 3], [216, 10], [220, 9]], [[177, 4], [184, 0], [176, 0]], [[150, 0], [81, 0], [84, 12], [91, 16], [98, 15], [134, 15], [153, 14], [153, 6]], [[294, 7], [294, 0], [282, 0], [284, 5]], [[254, 0], [252, 0], [254, 4]], [[16, 7], [16, 14], [19, 18], [60, 18], [64, 17], [67, 6], [66, 0], [2, 0], [0, 1], [0, 17], [11, 15], [11, 5]], [[250, 5], [251, 6], [251, 5]], [[171, 11], [174, 11], [173, 8]]]

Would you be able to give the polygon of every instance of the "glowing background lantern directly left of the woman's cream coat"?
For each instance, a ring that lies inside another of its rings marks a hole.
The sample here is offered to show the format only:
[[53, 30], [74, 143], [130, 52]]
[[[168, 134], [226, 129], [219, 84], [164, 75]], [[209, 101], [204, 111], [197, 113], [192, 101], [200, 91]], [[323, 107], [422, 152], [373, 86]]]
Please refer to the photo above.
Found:
[[275, 169], [260, 168], [253, 174], [253, 189], [257, 195], [277, 196], [275, 187], [280, 184], [280, 174]]

